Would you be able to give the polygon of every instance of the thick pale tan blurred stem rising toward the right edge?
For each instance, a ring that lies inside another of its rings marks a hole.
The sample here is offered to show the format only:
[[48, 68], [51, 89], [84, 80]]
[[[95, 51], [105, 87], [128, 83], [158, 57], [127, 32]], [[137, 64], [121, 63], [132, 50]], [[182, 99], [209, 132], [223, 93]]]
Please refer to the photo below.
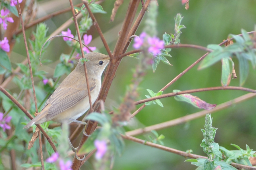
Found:
[[[248, 93], [248, 94], [242, 95], [240, 97], [237, 97], [237, 98], [232, 99], [230, 101], [227, 101], [225, 103], [217, 105], [215, 108], [210, 110], [210, 112], [212, 114], [212, 113], [220, 111], [222, 109], [226, 109], [228, 107], [231, 107], [234, 104], [241, 103], [245, 100], [251, 99], [255, 96], [256, 96], [255, 93]], [[135, 135], [140, 135], [140, 134], [143, 134], [143, 133], [146, 133], [146, 132], [150, 132], [151, 130], [160, 130], [160, 129], [164, 129], [164, 128], [169, 128], [169, 127], [172, 127], [172, 126], [176, 126], [178, 124], [182, 124], [182, 123], [185, 123], [185, 122], [203, 117], [207, 113], [209, 113], [209, 111], [203, 110], [203, 111], [196, 112], [196, 113], [193, 113], [193, 114], [189, 114], [189, 115], [186, 115], [186, 116], [174, 119], [174, 120], [170, 120], [170, 121], [167, 121], [167, 122], [162, 122], [162, 123], [155, 124], [155, 125], [152, 125], [152, 126], [148, 126], [148, 127], [145, 127], [145, 128], [139, 128], [139, 129], [135, 129], [135, 130], [132, 130], [132, 131], [128, 131], [125, 134], [130, 135], [130, 136], [135, 136]]]

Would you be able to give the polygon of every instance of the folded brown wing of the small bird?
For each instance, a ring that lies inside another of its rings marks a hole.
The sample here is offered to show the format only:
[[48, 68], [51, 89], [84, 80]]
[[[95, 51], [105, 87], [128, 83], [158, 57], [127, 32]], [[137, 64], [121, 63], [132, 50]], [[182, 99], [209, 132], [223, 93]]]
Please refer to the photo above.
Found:
[[[90, 88], [90, 92], [92, 92], [95, 89], [95, 87], [96, 84], [93, 84]], [[79, 101], [84, 99], [86, 96], [88, 96], [87, 89], [79, 90], [71, 87], [57, 88], [44, 106], [45, 108], [48, 104], [51, 104], [51, 106], [48, 109], [46, 118], [49, 119], [55, 116], [56, 114], [69, 109], [70, 107], [76, 105]]]

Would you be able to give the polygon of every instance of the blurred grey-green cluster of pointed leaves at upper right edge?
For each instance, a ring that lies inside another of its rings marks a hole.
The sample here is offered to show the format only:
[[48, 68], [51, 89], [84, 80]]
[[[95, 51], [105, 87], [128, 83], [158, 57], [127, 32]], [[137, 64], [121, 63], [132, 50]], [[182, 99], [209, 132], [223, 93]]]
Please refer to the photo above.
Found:
[[[208, 54], [203, 59], [203, 61], [199, 65], [199, 69], [209, 67], [214, 63], [220, 61], [221, 59], [228, 59], [229, 56], [236, 56], [239, 60], [240, 86], [242, 86], [249, 73], [248, 61], [251, 61], [253, 67], [255, 67], [256, 49], [255, 46], [253, 45], [253, 43], [255, 43], [253, 38], [250, 37], [244, 29], [242, 29], [241, 32], [242, 36], [230, 35], [232, 38], [236, 40], [236, 42], [229, 46], [221, 47], [217, 44], [208, 45], [207, 48], [212, 49], [213, 52]], [[223, 73], [227, 74], [227, 71]], [[223, 75], [222, 77], [225, 77], [225, 75]]]

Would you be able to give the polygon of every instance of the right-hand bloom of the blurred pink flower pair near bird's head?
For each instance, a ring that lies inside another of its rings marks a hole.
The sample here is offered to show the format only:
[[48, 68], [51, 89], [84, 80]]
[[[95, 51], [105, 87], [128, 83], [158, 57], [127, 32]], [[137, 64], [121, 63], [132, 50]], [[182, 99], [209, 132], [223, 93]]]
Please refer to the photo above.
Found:
[[148, 44], [150, 45], [148, 52], [152, 52], [153, 56], [157, 56], [161, 52], [161, 49], [164, 48], [164, 42], [158, 37], [148, 37]]

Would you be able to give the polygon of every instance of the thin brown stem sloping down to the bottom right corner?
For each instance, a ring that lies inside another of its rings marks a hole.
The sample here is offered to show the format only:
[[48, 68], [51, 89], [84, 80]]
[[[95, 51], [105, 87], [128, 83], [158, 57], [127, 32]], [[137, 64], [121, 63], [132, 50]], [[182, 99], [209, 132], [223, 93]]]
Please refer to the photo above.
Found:
[[[174, 149], [174, 148], [169, 148], [169, 147], [162, 146], [162, 145], [159, 145], [159, 144], [156, 144], [156, 143], [147, 142], [147, 141], [144, 141], [142, 139], [138, 139], [136, 137], [132, 137], [132, 136], [129, 136], [129, 135], [121, 135], [121, 136], [124, 139], [128, 139], [130, 141], [134, 141], [134, 142], [137, 142], [137, 143], [140, 143], [140, 144], [143, 144], [143, 145], [148, 145], [148, 146], [151, 146], [151, 147], [154, 147], [154, 148], [162, 149], [162, 150], [165, 150], [167, 152], [172, 152], [172, 153], [180, 155], [180, 156], [194, 158], [194, 159], [197, 159], [197, 158], [207, 159], [206, 156], [187, 153], [187, 152], [184, 152], [184, 151], [181, 151], [181, 150], [177, 150], [177, 149]], [[238, 164], [238, 163], [231, 163], [231, 165], [233, 167], [236, 167], [236, 168], [256, 170], [256, 167], [252, 167], [252, 166], [248, 166], [248, 165], [242, 165], [242, 164]]]

